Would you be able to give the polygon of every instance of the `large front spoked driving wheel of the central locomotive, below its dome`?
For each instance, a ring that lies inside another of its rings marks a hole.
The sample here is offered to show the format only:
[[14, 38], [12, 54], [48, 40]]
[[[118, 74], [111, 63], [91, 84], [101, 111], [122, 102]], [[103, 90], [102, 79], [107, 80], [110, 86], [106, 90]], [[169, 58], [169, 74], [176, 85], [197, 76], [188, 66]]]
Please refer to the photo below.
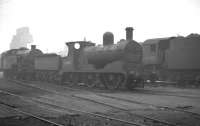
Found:
[[104, 84], [105, 88], [109, 90], [118, 89], [123, 81], [123, 74], [104, 73], [101, 75], [101, 82]]

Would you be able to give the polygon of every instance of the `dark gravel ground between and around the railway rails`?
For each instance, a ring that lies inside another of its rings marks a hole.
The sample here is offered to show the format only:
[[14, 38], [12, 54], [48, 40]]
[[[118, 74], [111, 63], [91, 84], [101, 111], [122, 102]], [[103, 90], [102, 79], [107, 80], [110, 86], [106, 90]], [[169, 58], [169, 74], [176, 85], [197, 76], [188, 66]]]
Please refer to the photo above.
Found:
[[[102, 119], [99, 117], [94, 117], [91, 115], [83, 114], [83, 113], [75, 113], [72, 111], [66, 111], [61, 108], [56, 108], [53, 106], [45, 105], [45, 104], [40, 104], [39, 102], [43, 103], [48, 103], [48, 104], [54, 104], [54, 105], [59, 105], [61, 107], [69, 107], [69, 108], [74, 108], [74, 109], [80, 109], [83, 111], [87, 112], [94, 112], [94, 113], [100, 113], [104, 114], [107, 116], [112, 116], [120, 119], [124, 119], [127, 121], [132, 121], [132, 122], [137, 122], [141, 124], [145, 124], [148, 126], [162, 126], [162, 124], [155, 123], [152, 121], [148, 121], [145, 119], [138, 118], [137, 116], [134, 116], [130, 113], [136, 113], [140, 115], [147, 115], [150, 117], [155, 117], [157, 119], [165, 120], [172, 122], [173, 124], [178, 124], [181, 126], [199, 126], [200, 125], [200, 120], [199, 118], [194, 118], [188, 114], [181, 113], [181, 112], [173, 112], [173, 111], [168, 111], [165, 109], [158, 109], [153, 106], [143, 106], [139, 104], [133, 104], [125, 101], [120, 101], [112, 98], [105, 98], [96, 95], [94, 90], [82, 90], [82, 91], [70, 91], [69, 89], [63, 88], [63, 85], [54, 85], [54, 84], [49, 84], [49, 83], [33, 83], [37, 86], [40, 86], [41, 88], [45, 88], [48, 90], [52, 91], [57, 91], [60, 93], [63, 93], [64, 95], [59, 95], [55, 93], [50, 93], [50, 92], [45, 92], [42, 90], [35, 90], [31, 89], [28, 87], [23, 87], [23, 86], [17, 86], [12, 83], [8, 83], [5, 81], [0, 80], [0, 89], [4, 90], [9, 90], [13, 91], [14, 93], [24, 95], [28, 98], [35, 98], [38, 100], [38, 103], [30, 103], [27, 101], [23, 101], [21, 99], [9, 97], [5, 94], [0, 93], [0, 99], [1, 101], [3, 100], [6, 103], [12, 104], [14, 106], [17, 106], [18, 108], [21, 108], [24, 111], [29, 111], [34, 114], [38, 114], [42, 117], [45, 117], [47, 119], [54, 120], [56, 122], [59, 122], [60, 124], [73, 124], [77, 126], [102, 126], [102, 125], [109, 125], [109, 126], [120, 126], [124, 125], [120, 122], [108, 120], [108, 119]], [[142, 89], [140, 89], [142, 90]], [[151, 90], [153, 92], [157, 92], [158, 94], [150, 94], [150, 93], [144, 93], [145, 90]], [[117, 98], [122, 98], [122, 99], [128, 99], [128, 100], [133, 100], [137, 102], [144, 102], [144, 103], [149, 103], [149, 104], [154, 104], [154, 105], [159, 105], [159, 106], [170, 106], [170, 107], [185, 107], [185, 106], [191, 106], [187, 108], [188, 111], [194, 111], [194, 112], [199, 112], [200, 113], [200, 108], [199, 108], [199, 99], [189, 99], [189, 98], [184, 98], [184, 97], [176, 97], [176, 96], [165, 96], [165, 95], [159, 95], [159, 92], [166, 92], [166, 93], [173, 93], [175, 95], [192, 95], [192, 96], [199, 96], [199, 92], [197, 89], [179, 89], [179, 88], [173, 88], [173, 87], [145, 87], [144, 92], [130, 92], [130, 91], [116, 91], [116, 92], [109, 92], [109, 91], [99, 91], [98, 93], [101, 93], [103, 95], [107, 96], [112, 96], [112, 97], [117, 97]], [[66, 95], [66, 96], [65, 96]], [[103, 106], [97, 103], [93, 103], [90, 101], [85, 101], [83, 99], [76, 99], [74, 97], [70, 97], [70, 95], [75, 95], [78, 97], [82, 98], [87, 98], [90, 100], [94, 100], [97, 102], [105, 102], [106, 104], [120, 107], [127, 109], [129, 112], [123, 112], [116, 110], [112, 107], [108, 106]], [[1, 107], [1, 106], [0, 106]], [[2, 109], [1, 109], [2, 110]], [[3, 110], [2, 110], [3, 111]], [[0, 111], [3, 114], [4, 112]], [[5, 113], [9, 113], [6, 112]], [[67, 113], [73, 113], [73, 115], [67, 114]], [[12, 114], [11, 114], [12, 115]], [[3, 122], [15, 122], [21, 121], [16, 124], [23, 124], [30, 125], [34, 123], [28, 123], [29, 122], [34, 122], [34, 120], [31, 117], [26, 117], [22, 119], [18, 118], [13, 118], [15, 116], [8, 115], [6, 117], [1, 118], [0, 124]], [[15, 115], [15, 114], [13, 114]], [[8, 120], [10, 121], [8, 121]], [[37, 121], [36, 121], [37, 122]], [[40, 124], [38, 121], [38, 124], [36, 123], [36, 126], [40, 125], [47, 125], [47, 124]], [[126, 124], [128, 125], [128, 124]]]

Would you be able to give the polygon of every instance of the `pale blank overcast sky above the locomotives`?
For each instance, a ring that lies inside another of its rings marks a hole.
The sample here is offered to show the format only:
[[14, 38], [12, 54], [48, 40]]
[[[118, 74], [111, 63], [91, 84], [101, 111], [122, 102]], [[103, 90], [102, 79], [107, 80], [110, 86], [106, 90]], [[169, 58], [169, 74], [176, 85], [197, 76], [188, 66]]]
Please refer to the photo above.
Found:
[[0, 52], [19, 27], [28, 26], [43, 51], [63, 50], [65, 42], [102, 43], [106, 31], [115, 42], [132, 26], [133, 38], [200, 33], [200, 0], [0, 0]]

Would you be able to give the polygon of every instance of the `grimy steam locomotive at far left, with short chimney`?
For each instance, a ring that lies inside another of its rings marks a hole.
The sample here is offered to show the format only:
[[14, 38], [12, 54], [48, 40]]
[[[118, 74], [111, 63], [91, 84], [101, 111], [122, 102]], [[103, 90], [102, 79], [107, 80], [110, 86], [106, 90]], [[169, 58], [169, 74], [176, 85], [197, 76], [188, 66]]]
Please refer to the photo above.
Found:
[[5, 78], [32, 79], [34, 75], [34, 58], [42, 55], [42, 51], [36, 49], [35, 45], [31, 50], [27, 48], [11, 49], [1, 56], [1, 69]]

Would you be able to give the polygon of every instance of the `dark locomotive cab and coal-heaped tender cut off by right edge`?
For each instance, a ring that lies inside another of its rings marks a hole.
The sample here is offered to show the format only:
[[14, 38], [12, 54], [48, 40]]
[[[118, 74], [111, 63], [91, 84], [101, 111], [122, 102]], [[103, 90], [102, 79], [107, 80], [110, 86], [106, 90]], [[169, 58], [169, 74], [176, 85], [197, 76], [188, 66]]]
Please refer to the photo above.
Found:
[[142, 46], [144, 73], [182, 85], [200, 80], [200, 35], [149, 39]]

